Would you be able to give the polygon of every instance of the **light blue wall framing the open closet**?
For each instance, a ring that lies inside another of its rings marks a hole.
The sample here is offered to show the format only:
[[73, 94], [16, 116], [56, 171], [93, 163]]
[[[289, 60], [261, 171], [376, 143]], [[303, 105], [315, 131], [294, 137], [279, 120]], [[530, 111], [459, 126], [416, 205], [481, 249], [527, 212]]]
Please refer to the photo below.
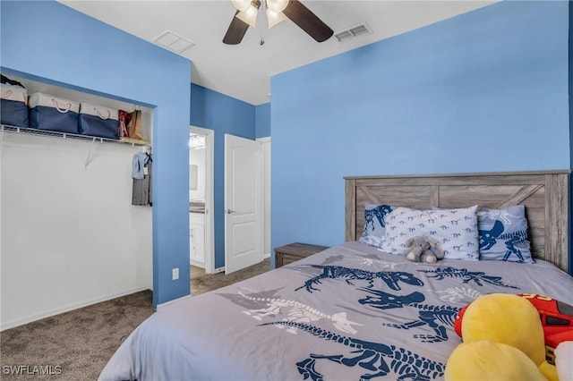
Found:
[[3, 72], [155, 107], [153, 304], [188, 295], [191, 63], [53, 1], [0, 6]]

